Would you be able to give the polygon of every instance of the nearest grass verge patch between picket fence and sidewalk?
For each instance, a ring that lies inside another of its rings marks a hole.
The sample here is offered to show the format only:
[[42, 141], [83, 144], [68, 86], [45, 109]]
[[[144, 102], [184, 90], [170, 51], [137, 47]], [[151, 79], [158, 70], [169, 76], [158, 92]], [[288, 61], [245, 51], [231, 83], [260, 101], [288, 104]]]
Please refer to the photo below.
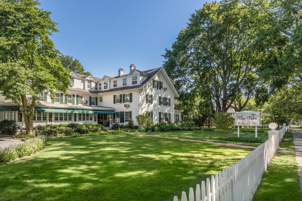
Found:
[[294, 154], [277, 153], [263, 175], [253, 200], [301, 200], [297, 170]]

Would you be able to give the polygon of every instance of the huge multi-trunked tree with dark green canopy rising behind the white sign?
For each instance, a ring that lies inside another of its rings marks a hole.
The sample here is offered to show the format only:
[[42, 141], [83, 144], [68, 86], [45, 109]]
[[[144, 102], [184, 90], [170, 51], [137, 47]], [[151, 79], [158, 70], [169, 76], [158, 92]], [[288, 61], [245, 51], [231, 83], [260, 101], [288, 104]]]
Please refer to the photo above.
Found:
[[284, 50], [275, 44], [280, 46], [285, 39], [280, 33], [262, 35], [271, 42], [263, 47], [258, 33], [271, 25], [256, 12], [236, 1], [205, 3], [191, 15], [172, 50], [166, 50], [166, 70], [187, 90], [198, 88], [213, 114], [231, 107], [241, 111], [250, 98], [268, 93], [259, 74], [278, 62], [274, 58]]

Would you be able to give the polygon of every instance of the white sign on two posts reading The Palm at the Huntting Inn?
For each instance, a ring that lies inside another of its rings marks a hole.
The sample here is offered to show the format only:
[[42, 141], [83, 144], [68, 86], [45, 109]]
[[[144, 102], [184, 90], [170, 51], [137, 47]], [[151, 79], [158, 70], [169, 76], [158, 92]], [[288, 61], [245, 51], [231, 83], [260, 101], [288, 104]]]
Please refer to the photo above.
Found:
[[239, 126], [255, 126], [255, 137], [258, 137], [258, 126], [261, 126], [261, 112], [241, 111], [235, 112], [235, 126], [239, 137]]

